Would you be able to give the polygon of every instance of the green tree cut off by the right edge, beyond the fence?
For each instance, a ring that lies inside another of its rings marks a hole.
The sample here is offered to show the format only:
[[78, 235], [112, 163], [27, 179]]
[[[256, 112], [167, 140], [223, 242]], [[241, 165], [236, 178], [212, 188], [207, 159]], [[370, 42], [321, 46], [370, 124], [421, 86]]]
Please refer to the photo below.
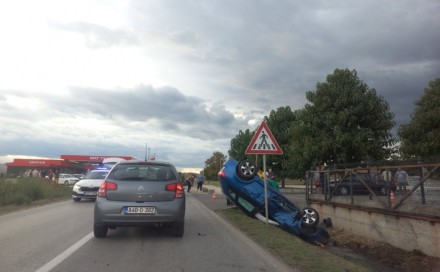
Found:
[[429, 82], [415, 102], [409, 124], [398, 129], [400, 153], [404, 158], [440, 155], [440, 78]]

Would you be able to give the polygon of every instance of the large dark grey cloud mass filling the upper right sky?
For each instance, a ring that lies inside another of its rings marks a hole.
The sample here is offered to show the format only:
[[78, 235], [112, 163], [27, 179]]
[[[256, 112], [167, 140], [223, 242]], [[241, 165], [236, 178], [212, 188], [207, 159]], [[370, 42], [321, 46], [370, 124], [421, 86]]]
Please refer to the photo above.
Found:
[[401, 124], [423, 87], [440, 76], [440, 2], [383, 5], [138, 1], [134, 28], [160, 31], [170, 42], [192, 48], [188, 59], [217, 66], [219, 77], [229, 78], [223, 96], [269, 108], [301, 107], [305, 92], [334, 69], [356, 69], [390, 102]]

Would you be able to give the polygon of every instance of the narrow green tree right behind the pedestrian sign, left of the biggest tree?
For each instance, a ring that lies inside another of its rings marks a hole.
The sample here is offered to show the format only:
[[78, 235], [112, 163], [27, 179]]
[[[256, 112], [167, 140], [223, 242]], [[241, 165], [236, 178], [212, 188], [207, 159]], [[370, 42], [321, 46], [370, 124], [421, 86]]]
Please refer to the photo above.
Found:
[[283, 150], [282, 155], [269, 155], [267, 157], [267, 166], [272, 167], [276, 173], [276, 177], [281, 179], [281, 186], [284, 187], [284, 179], [291, 175], [288, 171], [289, 166], [289, 152], [286, 152], [292, 142], [290, 130], [296, 120], [296, 115], [289, 106], [280, 107], [277, 110], [272, 110], [269, 116], [265, 116], [264, 120], [272, 132], [275, 140]]

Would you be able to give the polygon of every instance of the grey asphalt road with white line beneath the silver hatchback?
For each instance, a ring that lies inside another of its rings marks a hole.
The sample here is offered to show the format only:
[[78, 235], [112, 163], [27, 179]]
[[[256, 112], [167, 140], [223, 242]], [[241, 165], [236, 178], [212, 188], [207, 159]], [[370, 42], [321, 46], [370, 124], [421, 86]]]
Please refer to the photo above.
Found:
[[183, 238], [118, 228], [96, 239], [93, 206], [69, 200], [0, 216], [0, 271], [292, 271], [212, 211], [226, 207], [221, 193], [187, 194]]

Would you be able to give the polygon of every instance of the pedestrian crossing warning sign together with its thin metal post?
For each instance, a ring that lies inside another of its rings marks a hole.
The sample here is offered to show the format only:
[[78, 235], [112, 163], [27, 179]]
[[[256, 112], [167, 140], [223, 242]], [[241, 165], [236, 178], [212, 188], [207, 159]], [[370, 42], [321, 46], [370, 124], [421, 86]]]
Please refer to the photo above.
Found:
[[262, 154], [263, 155], [263, 171], [264, 171], [264, 210], [266, 213], [266, 223], [269, 223], [269, 208], [267, 203], [267, 176], [266, 176], [266, 154], [281, 155], [283, 151], [278, 145], [275, 137], [267, 126], [266, 122], [261, 122], [246, 149], [246, 154]]

